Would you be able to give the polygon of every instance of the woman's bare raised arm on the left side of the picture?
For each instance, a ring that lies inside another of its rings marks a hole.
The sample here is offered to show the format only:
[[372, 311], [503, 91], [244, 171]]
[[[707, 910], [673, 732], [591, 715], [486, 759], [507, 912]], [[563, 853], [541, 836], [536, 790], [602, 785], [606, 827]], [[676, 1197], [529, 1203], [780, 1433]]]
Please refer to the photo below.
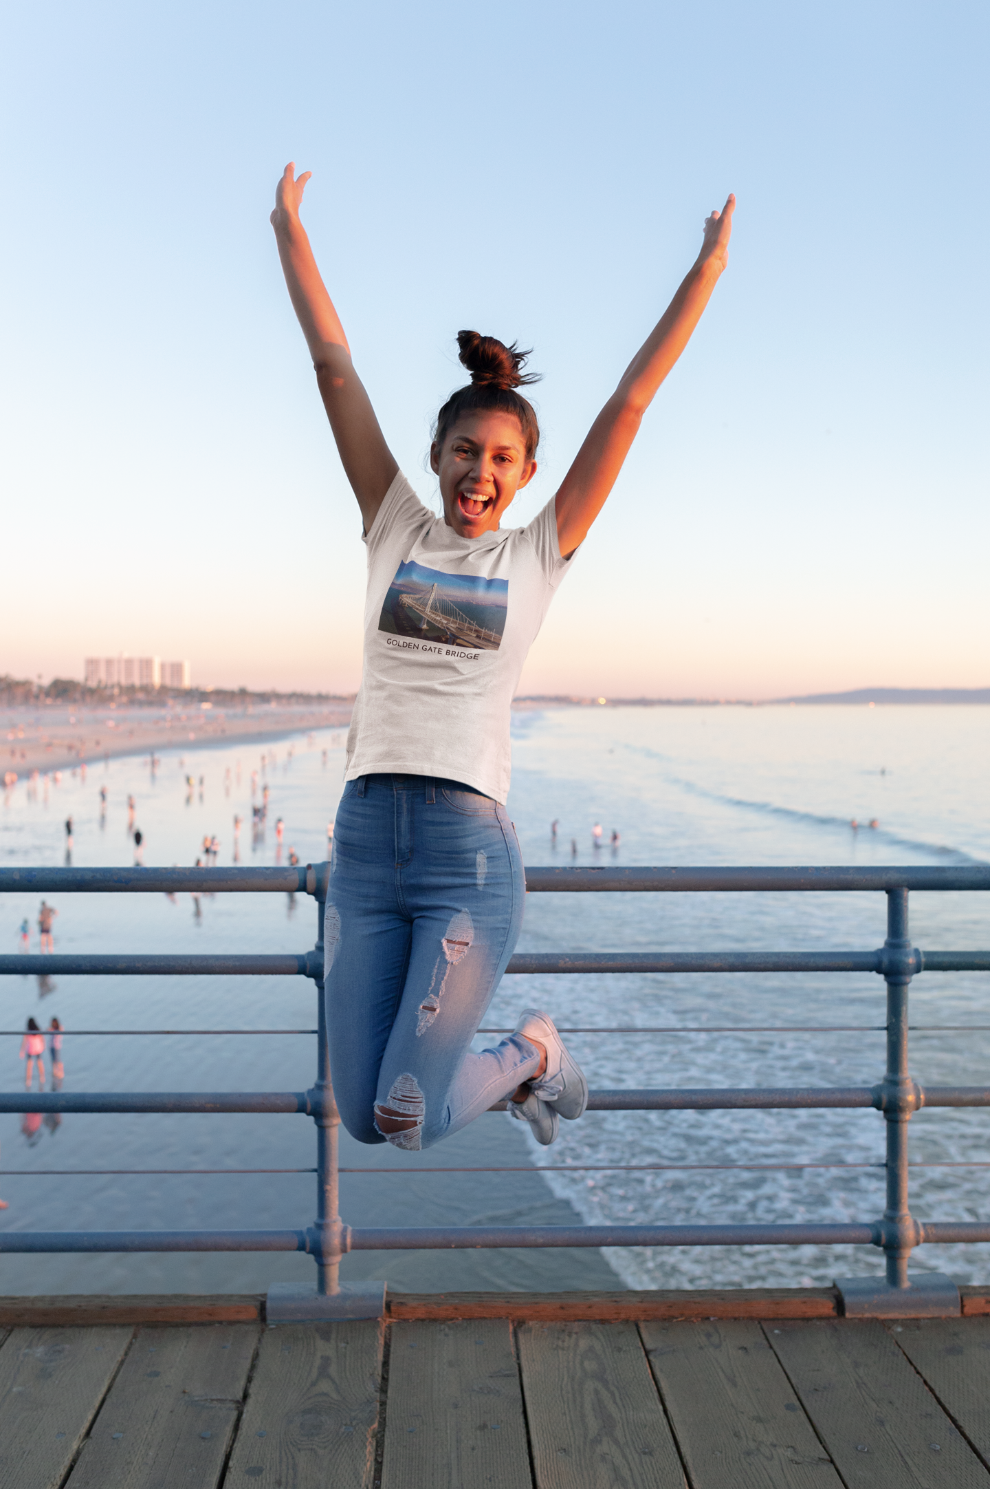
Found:
[[354, 372], [344, 328], [299, 222], [302, 191], [310, 176], [311, 171], [305, 171], [296, 180], [295, 162], [286, 165], [275, 189], [271, 225], [289, 298], [307, 338], [323, 406], [368, 533], [399, 466], [381, 433], [365, 384]]

